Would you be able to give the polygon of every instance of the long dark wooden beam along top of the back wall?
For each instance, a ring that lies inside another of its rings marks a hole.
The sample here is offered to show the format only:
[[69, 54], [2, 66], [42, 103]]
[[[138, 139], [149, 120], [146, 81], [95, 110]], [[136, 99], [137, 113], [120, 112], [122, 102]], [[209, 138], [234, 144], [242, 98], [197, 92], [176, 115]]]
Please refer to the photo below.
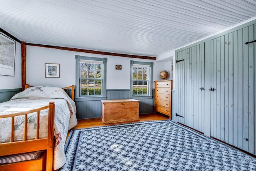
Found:
[[27, 43], [27, 45], [28, 46], [38, 46], [38, 47], [42, 47], [42, 48], [52, 48], [52, 49], [68, 50], [68, 51], [74, 51], [74, 52], [83, 52], [83, 53], [89, 53], [89, 54], [99, 54], [99, 55], [109, 55], [109, 56], [120, 56], [120, 57], [126, 57], [126, 58], [139, 58], [139, 59], [146, 59], [146, 60], [156, 60], [156, 57], [153, 57], [153, 56], [117, 54], [117, 53], [102, 52], [102, 51], [96, 51], [96, 50], [67, 48], [67, 47], [62, 47], [62, 46], [50, 46], [50, 45], [32, 44], [32, 43]]

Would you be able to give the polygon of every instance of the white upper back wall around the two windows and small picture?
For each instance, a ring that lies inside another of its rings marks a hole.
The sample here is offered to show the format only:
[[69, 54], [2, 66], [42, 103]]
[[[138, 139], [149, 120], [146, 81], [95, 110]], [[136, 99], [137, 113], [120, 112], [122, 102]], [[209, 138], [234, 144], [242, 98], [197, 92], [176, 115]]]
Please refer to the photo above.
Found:
[[[153, 80], [161, 80], [159, 73], [165, 68], [164, 62], [156, 62], [155, 60], [106, 56], [27, 46], [27, 83], [30, 85], [48, 85], [56, 87], [65, 87], [75, 84], [75, 55], [108, 58], [106, 78], [107, 89], [130, 89], [130, 60], [154, 62]], [[60, 78], [45, 78], [45, 63], [60, 64]], [[116, 65], [122, 65], [122, 70], [116, 70]]]

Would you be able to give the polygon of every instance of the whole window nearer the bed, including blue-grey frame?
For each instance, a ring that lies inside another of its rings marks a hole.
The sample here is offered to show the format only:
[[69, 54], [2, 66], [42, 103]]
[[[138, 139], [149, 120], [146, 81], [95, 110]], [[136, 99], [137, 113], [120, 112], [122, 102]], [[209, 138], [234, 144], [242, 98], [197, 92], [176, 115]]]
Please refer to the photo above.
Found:
[[76, 98], [106, 96], [106, 61], [76, 55]]

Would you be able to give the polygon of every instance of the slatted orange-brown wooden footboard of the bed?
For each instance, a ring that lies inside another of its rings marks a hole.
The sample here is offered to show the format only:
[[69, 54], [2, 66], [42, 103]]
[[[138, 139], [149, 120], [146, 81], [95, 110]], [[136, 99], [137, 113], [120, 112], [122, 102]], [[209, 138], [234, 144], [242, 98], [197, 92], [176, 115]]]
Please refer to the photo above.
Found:
[[[49, 109], [48, 111], [48, 135], [47, 138], [39, 139], [39, 118], [40, 111]], [[28, 114], [37, 112], [37, 127], [36, 127], [36, 139], [27, 140], [27, 123]], [[49, 105], [32, 109], [29, 111], [0, 115], [1, 118], [11, 118], [11, 135], [10, 142], [0, 143], [0, 156], [13, 155], [19, 153], [27, 153], [31, 151], [46, 150], [46, 171], [52, 171], [53, 168], [53, 150], [54, 150], [54, 113], [55, 103], [50, 102]], [[14, 118], [16, 116], [24, 115], [24, 141], [14, 141]], [[10, 165], [10, 168], [11, 165]], [[1, 165], [0, 165], [1, 170]]]

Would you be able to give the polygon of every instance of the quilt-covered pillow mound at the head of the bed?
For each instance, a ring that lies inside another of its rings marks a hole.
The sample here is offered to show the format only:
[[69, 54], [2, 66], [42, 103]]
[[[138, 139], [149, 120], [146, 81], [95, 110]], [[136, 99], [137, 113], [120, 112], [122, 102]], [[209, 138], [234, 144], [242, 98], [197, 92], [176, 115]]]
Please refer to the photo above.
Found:
[[69, 103], [70, 107], [73, 107], [74, 112], [76, 113], [76, 105], [74, 101], [67, 95], [64, 89], [59, 87], [29, 87], [24, 91], [14, 95], [10, 100], [14, 99], [65, 99]]

